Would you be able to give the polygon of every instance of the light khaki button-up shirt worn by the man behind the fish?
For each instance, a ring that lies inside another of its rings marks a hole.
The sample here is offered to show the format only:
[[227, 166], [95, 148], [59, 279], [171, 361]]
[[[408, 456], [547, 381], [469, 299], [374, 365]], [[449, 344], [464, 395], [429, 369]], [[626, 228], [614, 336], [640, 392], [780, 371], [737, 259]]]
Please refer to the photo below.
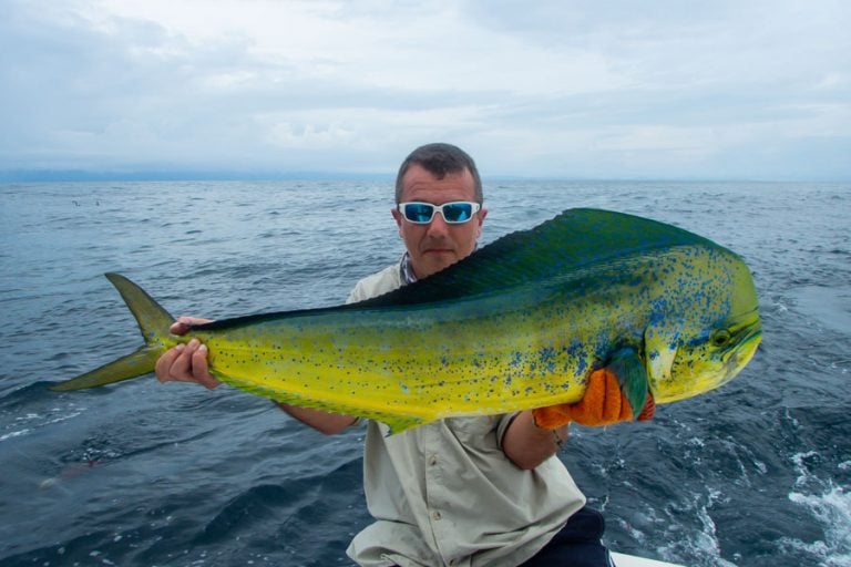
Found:
[[[399, 265], [349, 301], [401, 287]], [[363, 567], [501, 567], [534, 556], [585, 505], [562, 462], [517, 468], [502, 451], [514, 414], [452, 417], [388, 436], [367, 422], [363, 488], [376, 522], [347, 553]]]

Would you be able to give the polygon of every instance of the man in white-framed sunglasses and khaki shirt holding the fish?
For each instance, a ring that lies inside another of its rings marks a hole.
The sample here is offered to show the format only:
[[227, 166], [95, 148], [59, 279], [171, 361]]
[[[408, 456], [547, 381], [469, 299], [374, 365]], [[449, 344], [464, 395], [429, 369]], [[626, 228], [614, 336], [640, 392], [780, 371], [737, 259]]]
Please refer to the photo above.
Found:
[[[473, 252], [488, 210], [472, 158], [449, 144], [414, 150], [396, 183], [392, 216], [407, 249], [400, 264], [362, 279], [360, 301], [449, 267]], [[183, 333], [193, 319], [178, 319]], [[163, 354], [161, 381], [215, 388], [197, 341]], [[632, 419], [617, 380], [589, 379], [585, 399], [507, 415], [454, 417], [388, 436], [366, 424], [363, 483], [376, 522], [358, 534], [349, 556], [361, 566], [609, 566], [603, 519], [555, 457], [567, 422], [603, 425]], [[358, 420], [278, 404], [326, 434]], [[542, 425], [542, 426], [539, 426]]]

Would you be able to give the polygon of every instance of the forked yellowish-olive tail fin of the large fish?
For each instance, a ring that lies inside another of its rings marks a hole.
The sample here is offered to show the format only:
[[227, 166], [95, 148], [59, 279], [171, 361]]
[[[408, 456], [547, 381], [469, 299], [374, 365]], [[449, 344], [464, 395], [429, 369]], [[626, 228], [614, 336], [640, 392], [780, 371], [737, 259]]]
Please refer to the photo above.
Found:
[[91, 372], [60, 382], [51, 386], [53, 391], [83, 390], [151, 373], [157, 359], [167, 348], [165, 338], [168, 337], [168, 329], [174, 322], [168, 311], [124, 276], [106, 274], [106, 278], [115, 286], [136, 318], [145, 346]]

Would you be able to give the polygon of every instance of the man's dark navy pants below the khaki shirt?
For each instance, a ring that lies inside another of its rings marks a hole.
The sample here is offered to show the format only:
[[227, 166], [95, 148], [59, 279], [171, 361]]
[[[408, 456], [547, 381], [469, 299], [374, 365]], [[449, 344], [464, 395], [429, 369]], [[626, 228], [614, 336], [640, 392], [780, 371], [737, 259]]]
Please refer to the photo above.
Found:
[[603, 515], [585, 506], [521, 567], [614, 567], [608, 549], [599, 540], [605, 527]]

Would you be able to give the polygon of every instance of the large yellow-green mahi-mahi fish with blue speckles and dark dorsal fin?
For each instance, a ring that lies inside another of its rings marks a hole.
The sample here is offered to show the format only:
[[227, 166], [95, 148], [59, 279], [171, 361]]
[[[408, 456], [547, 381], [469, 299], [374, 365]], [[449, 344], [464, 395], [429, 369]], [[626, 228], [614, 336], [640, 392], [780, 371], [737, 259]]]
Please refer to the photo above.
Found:
[[174, 336], [141, 288], [106, 277], [145, 346], [54, 390], [153, 371], [199, 339], [222, 382], [294, 405], [378, 420], [392, 433], [583, 398], [609, 367], [633, 415], [741, 371], [761, 339], [757, 295], [730, 250], [654, 220], [570, 209], [428, 279], [346, 306], [218, 320]]

